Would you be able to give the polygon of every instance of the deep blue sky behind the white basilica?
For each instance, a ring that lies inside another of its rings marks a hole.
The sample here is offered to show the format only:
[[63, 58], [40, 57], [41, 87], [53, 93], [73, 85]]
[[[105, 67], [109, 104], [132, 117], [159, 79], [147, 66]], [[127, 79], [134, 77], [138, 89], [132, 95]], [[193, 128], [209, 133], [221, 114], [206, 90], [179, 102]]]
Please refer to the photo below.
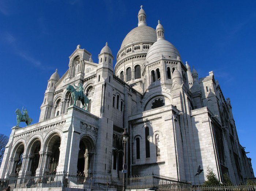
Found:
[[[230, 97], [240, 144], [256, 171], [256, 1], [82, 1], [0, 0], [0, 133], [10, 135], [16, 108], [38, 122], [47, 80], [68, 70], [78, 44], [93, 55], [105, 43], [116, 59], [121, 43], [138, 24], [143, 5], [147, 24], [160, 19], [165, 38], [199, 78], [214, 71]], [[25, 123], [21, 123], [21, 126]]]

